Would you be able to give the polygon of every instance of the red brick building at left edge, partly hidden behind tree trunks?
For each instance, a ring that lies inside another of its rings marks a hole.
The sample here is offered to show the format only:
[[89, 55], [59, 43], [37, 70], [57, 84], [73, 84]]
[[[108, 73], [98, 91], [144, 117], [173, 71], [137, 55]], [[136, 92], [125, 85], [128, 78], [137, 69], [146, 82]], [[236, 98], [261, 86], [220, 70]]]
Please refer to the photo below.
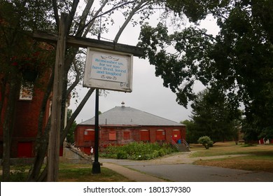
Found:
[[[48, 78], [43, 78], [48, 80]], [[38, 116], [44, 96], [43, 87], [23, 87], [18, 93], [15, 103], [15, 124], [12, 134], [10, 158], [32, 158], [34, 157], [34, 142], [38, 130]], [[6, 96], [5, 96], [6, 97]], [[6, 99], [6, 98], [5, 98]], [[6, 100], [1, 111], [1, 120], [5, 116]], [[48, 100], [43, 125], [50, 115], [50, 100]], [[0, 126], [0, 153], [3, 155], [3, 127]]]

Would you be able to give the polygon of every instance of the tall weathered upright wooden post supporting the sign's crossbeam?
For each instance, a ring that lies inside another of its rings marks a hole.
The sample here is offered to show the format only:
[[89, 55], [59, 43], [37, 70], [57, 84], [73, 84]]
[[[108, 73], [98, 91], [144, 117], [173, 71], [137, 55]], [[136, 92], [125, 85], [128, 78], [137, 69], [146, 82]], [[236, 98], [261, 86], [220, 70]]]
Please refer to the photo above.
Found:
[[64, 75], [64, 55], [66, 50], [66, 32], [68, 15], [62, 13], [59, 22], [59, 35], [55, 59], [54, 84], [52, 95], [51, 127], [48, 141], [48, 181], [58, 181], [59, 146], [62, 116], [62, 85]]

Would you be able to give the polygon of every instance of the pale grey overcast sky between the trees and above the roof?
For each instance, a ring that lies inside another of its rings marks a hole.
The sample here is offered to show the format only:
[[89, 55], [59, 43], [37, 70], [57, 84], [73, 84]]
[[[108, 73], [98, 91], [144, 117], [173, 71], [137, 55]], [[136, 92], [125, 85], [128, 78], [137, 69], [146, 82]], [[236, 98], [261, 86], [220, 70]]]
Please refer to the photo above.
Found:
[[[156, 25], [158, 21], [154, 21], [153, 25]], [[208, 29], [209, 34], [216, 34], [218, 31], [214, 25], [214, 20], [211, 18], [202, 22], [202, 27]], [[116, 27], [118, 27], [116, 25]], [[109, 32], [113, 34], [115, 27], [110, 29]], [[118, 43], [124, 43], [127, 45], [137, 45], [139, 38], [139, 27], [132, 27], [129, 25], [123, 34], [120, 36]], [[113, 36], [116, 34], [113, 34]], [[102, 34], [102, 37], [113, 39], [113, 36], [109, 34]], [[176, 102], [176, 94], [174, 94], [169, 88], [163, 87], [163, 80], [160, 77], [155, 76], [155, 67], [149, 64], [148, 59], [139, 59], [134, 57], [133, 63], [133, 83], [132, 92], [116, 92], [107, 90], [109, 92], [106, 97], [99, 97], [99, 111], [104, 113], [112, 109], [115, 106], [121, 106], [121, 102], [125, 102], [125, 106], [130, 106], [134, 109], [139, 109], [153, 115], [174, 120], [179, 123], [181, 120], [189, 119], [191, 109], [185, 109]], [[200, 84], [197, 84], [195, 91], [204, 89]], [[87, 92], [86, 87], [80, 87], [78, 89], [79, 99]], [[88, 102], [83, 107], [83, 110], [79, 113], [76, 122], [80, 123], [87, 119], [94, 117], [94, 101], [95, 93], [91, 95]], [[76, 109], [76, 102], [71, 99], [69, 109], [73, 111]]]

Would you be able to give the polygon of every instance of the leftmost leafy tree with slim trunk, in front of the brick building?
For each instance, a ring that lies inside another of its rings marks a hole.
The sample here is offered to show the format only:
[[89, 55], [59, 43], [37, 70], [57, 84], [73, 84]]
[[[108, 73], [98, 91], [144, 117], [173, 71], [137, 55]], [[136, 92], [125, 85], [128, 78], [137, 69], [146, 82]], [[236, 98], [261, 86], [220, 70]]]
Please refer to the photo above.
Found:
[[[43, 5], [43, 6], [41, 6]], [[41, 47], [27, 34], [30, 29], [50, 27], [47, 1], [1, 1], [0, 3], [0, 77], [1, 130], [3, 130], [3, 181], [9, 181], [10, 142], [15, 123], [15, 109], [20, 85], [29, 83], [25, 71], [36, 69], [40, 77], [31, 83], [41, 83], [45, 69], [50, 67], [50, 51]], [[39, 9], [37, 9], [40, 7]], [[41, 60], [41, 61], [40, 61]], [[39, 66], [42, 64], [43, 66]], [[4, 102], [6, 109], [4, 109]], [[3, 120], [3, 121], [2, 121]]]

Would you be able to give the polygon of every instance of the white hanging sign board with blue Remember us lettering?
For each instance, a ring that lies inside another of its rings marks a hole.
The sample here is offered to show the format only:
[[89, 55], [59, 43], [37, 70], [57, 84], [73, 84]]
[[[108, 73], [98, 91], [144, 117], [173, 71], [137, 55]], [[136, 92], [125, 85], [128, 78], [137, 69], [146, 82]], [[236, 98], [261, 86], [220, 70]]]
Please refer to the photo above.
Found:
[[133, 55], [87, 48], [83, 86], [132, 92]]

